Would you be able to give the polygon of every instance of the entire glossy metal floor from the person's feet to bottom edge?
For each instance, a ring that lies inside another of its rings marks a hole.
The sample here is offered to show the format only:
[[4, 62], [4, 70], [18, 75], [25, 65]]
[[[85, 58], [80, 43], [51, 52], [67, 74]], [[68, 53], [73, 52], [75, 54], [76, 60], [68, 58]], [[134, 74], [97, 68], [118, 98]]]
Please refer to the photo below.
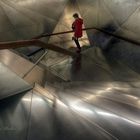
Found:
[[0, 101], [0, 139], [139, 140], [139, 73], [99, 48], [50, 69], [64, 79]]

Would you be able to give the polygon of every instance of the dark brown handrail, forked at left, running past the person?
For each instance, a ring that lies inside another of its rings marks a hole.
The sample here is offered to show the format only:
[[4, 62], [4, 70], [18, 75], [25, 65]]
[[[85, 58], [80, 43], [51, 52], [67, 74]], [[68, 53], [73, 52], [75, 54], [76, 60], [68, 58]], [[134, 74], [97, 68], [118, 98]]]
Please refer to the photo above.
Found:
[[[127, 42], [130, 42], [130, 43], [133, 43], [133, 44], [136, 44], [136, 45], [140, 45], [140, 42], [137, 42], [137, 41], [134, 41], [132, 39], [125, 38], [125, 37], [122, 37], [122, 36], [118, 36], [114, 33], [108, 32], [108, 31], [103, 30], [103, 29], [98, 29], [98, 28], [93, 27], [93, 28], [84, 28], [83, 30], [100, 31], [102, 33], [105, 33], [105, 34], [111, 35], [113, 37], [116, 37], [118, 39], [125, 40]], [[67, 34], [67, 33], [72, 33], [72, 32], [73, 32], [73, 30], [65, 31], [65, 32], [58, 32], [58, 33], [53, 33], [53, 34], [43, 34], [43, 35], [35, 37], [34, 39], [31, 39], [31, 40], [1, 42], [0, 43], [0, 49], [20, 48], [20, 47], [28, 47], [28, 46], [34, 45], [34, 46], [39, 46], [39, 47], [42, 47], [42, 48], [47, 48], [47, 49], [50, 49], [50, 50], [53, 50], [53, 51], [57, 51], [57, 52], [60, 52], [60, 53], [63, 53], [63, 54], [67, 54], [67, 55], [70, 55], [70, 56], [74, 56], [76, 54], [71, 52], [71, 51], [68, 51], [66, 49], [60, 48], [60, 47], [52, 45], [52, 44], [46, 44], [46, 43], [39, 40], [42, 37], [48, 37], [48, 36], [54, 36], [54, 35], [60, 35], [60, 34]]]

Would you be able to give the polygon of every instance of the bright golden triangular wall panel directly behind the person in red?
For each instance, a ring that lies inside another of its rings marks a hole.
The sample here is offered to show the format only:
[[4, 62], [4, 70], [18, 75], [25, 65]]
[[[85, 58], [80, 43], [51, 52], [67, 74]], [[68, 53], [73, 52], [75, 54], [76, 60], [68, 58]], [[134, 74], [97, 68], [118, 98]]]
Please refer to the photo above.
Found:
[[[77, 5], [75, 5], [71, 1], [68, 2], [63, 11], [62, 16], [59, 18], [59, 21], [58, 21], [53, 33], [71, 30], [71, 25], [74, 20], [72, 15], [75, 12], [79, 13]], [[79, 15], [80, 15], [80, 13], [79, 13]], [[72, 41], [72, 36], [73, 36], [73, 33], [52, 36], [52, 37], [50, 37], [48, 42], [50, 44], [55, 44], [62, 48], [67, 48], [67, 49], [74, 48], [74, 47], [76, 48], [74, 42]], [[82, 38], [80, 39], [80, 45], [83, 47], [90, 45], [86, 32], [84, 32], [83, 39]], [[65, 56], [63, 56], [62, 54], [49, 51], [48, 54], [46, 55], [46, 57], [44, 58], [43, 62], [46, 63], [46, 65], [48, 66], [49, 65], [48, 63], [51, 62], [51, 65], [52, 65], [55, 63], [55, 61], [61, 60], [64, 57]]]

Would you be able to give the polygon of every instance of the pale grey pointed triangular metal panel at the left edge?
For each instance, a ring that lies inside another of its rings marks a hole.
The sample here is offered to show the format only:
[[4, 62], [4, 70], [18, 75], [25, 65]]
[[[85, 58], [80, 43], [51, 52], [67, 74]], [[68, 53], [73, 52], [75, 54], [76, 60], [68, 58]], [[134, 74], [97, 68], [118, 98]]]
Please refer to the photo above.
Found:
[[26, 92], [32, 86], [0, 63], [0, 99]]

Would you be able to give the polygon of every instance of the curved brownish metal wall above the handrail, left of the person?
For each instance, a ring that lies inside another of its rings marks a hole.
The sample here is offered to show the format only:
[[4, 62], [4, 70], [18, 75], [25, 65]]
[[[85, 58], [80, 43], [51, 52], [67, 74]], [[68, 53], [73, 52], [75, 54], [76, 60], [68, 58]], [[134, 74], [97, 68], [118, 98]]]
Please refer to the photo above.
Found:
[[66, 3], [67, 0], [1, 0], [0, 41], [51, 33]]

